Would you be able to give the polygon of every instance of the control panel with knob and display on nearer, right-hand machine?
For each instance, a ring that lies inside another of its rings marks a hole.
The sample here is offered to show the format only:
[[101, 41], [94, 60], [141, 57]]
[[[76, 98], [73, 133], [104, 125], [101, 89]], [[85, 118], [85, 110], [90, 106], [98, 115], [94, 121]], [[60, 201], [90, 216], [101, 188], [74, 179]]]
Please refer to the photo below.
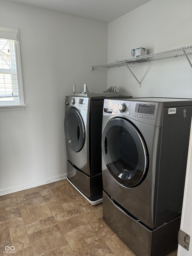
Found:
[[142, 102], [134, 99], [105, 99], [104, 116], [121, 115], [151, 125], [161, 125], [162, 102]]

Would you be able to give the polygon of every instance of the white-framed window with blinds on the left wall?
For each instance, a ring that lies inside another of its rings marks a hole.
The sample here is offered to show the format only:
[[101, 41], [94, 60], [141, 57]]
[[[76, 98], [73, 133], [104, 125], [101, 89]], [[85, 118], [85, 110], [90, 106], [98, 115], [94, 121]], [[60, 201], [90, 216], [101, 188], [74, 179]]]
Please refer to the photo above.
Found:
[[0, 27], [0, 110], [25, 109], [18, 29]]

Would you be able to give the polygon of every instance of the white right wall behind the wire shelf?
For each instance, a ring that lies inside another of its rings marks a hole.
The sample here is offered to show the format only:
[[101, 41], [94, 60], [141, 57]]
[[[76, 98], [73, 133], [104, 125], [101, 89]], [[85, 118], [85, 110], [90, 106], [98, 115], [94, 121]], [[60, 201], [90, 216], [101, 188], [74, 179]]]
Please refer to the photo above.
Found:
[[[192, 1], [152, 0], [108, 23], [108, 63], [131, 58], [131, 49], [156, 53], [192, 44]], [[192, 62], [192, 55], [189, 55]], [[103, 64], [103, 63], [101, 63]], [[192, 69], [185, 56], [110, 68], [107, 86], [133, 97], [192, 98]]]

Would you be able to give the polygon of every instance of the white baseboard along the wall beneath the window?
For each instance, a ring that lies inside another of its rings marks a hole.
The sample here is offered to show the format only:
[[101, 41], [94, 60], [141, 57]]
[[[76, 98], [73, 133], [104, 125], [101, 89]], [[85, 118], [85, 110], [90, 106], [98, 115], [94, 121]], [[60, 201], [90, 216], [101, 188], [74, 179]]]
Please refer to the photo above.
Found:
[[0, 189], [0, 196], [14, 193], [17, 191], [21, 191], [21, 190], [28, 189], [28, 188], [34, 188], [37, 186], [45, 185], [45, 184], [59, 181], [62, 179], [66, 179], [66, 177], [67, 177], [67, 173], [64, 173], [59, 176], [55, 176], [55, 177], [51, 177], [51, 178], [47, 178], [47, 179], [40, 179], [40, 180], [32, 181], [29, 183], [25, 183], [22, 185], [17, 185], [17, 186], [13, 186], [13, 187], [9, 187], [9, 188], [3, 188], [3, 189]]

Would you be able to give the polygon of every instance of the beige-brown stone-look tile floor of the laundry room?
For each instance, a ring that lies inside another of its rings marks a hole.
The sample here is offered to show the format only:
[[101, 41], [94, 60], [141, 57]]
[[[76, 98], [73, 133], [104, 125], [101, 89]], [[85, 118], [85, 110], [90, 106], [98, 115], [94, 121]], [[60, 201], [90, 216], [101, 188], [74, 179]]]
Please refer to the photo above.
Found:
[[5, 246], [17, 256], [135, 255], [103, 220], [102, 203], [92, 206], [66, 179], [0, 197], [0, 256]]

